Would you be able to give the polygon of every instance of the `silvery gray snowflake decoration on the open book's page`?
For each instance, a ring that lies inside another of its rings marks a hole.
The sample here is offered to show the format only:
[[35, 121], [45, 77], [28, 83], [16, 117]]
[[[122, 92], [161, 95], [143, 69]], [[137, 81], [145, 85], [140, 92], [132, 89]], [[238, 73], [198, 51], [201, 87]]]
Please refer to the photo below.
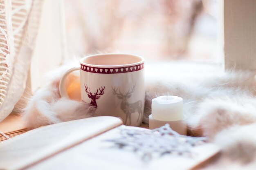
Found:
[[136, 152], [144, 161], [166, 154], [192, 157], [191, 148], [207, 140], [205, 137], [180, 135], [169, 124], [154, 130], [120, 128], [120, 132], [121, 137], [107, 141], [120, 149]]

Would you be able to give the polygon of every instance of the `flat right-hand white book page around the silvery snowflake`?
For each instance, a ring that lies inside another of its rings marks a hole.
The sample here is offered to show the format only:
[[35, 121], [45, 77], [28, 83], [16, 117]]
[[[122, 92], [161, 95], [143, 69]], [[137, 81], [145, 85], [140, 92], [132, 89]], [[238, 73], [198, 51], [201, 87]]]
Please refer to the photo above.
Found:
[[109, 130], [40, 162], [29, 170], [189, 170], [219, 152], [217, 146], [203, 144], [193, 148], [195, 157], [166, 155], [145, 162], [135, 152], [112, 148], [113, 144], [106, 142], [107, 139], [120, 137], [119, 128], [135, 127], [122, 125]]

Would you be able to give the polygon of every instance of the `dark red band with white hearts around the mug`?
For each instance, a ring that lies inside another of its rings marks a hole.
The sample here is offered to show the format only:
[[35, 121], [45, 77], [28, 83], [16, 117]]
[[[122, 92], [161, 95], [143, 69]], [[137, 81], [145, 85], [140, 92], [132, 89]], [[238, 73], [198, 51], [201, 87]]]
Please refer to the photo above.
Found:
[[80, 64], [80, 68], [83, 71], [90, 73], [99, 73], [99, 74], [117, 74], [117, 73], [130, 73], [133, 71], [139, 71], [144, 68], [144, 63], [135, 65], [135, 66], [127, 66], [127, 67], [114, 67], [114, 68], [102, 68], [102, 67], [91, 67]]

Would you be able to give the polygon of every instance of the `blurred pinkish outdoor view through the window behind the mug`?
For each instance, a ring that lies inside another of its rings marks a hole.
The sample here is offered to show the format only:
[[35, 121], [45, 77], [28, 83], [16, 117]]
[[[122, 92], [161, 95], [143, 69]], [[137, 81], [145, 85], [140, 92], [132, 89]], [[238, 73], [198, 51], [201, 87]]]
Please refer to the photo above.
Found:
[[67, 54], [220, 64], [218, 0], [64, 0]]

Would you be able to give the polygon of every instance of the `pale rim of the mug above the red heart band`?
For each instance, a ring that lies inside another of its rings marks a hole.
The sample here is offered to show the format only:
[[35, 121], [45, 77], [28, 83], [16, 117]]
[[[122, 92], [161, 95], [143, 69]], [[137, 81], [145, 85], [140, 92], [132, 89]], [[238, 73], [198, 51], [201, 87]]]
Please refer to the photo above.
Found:
[[[94, 57], [94, 56], [104, 56], [104, 55], [127, 55], [127, 56], [133, 56], [139, 58], [141, 61], [135, 62], [132, 64], [119, 64], [119, 65], [97, 65], [97, 64], [88, 64], [83, 62], [86, 58]], [[139, 64], [143, 64], [145, 59], [139, 55], [133, 55], [133, 54], [126, 54], [126, 53], [106, 53], [106, 54], [94, 54], [94, 55], [88, 55], [86, 57], [83, 57], [79, 60], [80, 64], [91, 66], [91, 67], [98, 67], [98, 68], [118, 68], [118, 67], [127, 67], [127, 66], [135, 66]]]

